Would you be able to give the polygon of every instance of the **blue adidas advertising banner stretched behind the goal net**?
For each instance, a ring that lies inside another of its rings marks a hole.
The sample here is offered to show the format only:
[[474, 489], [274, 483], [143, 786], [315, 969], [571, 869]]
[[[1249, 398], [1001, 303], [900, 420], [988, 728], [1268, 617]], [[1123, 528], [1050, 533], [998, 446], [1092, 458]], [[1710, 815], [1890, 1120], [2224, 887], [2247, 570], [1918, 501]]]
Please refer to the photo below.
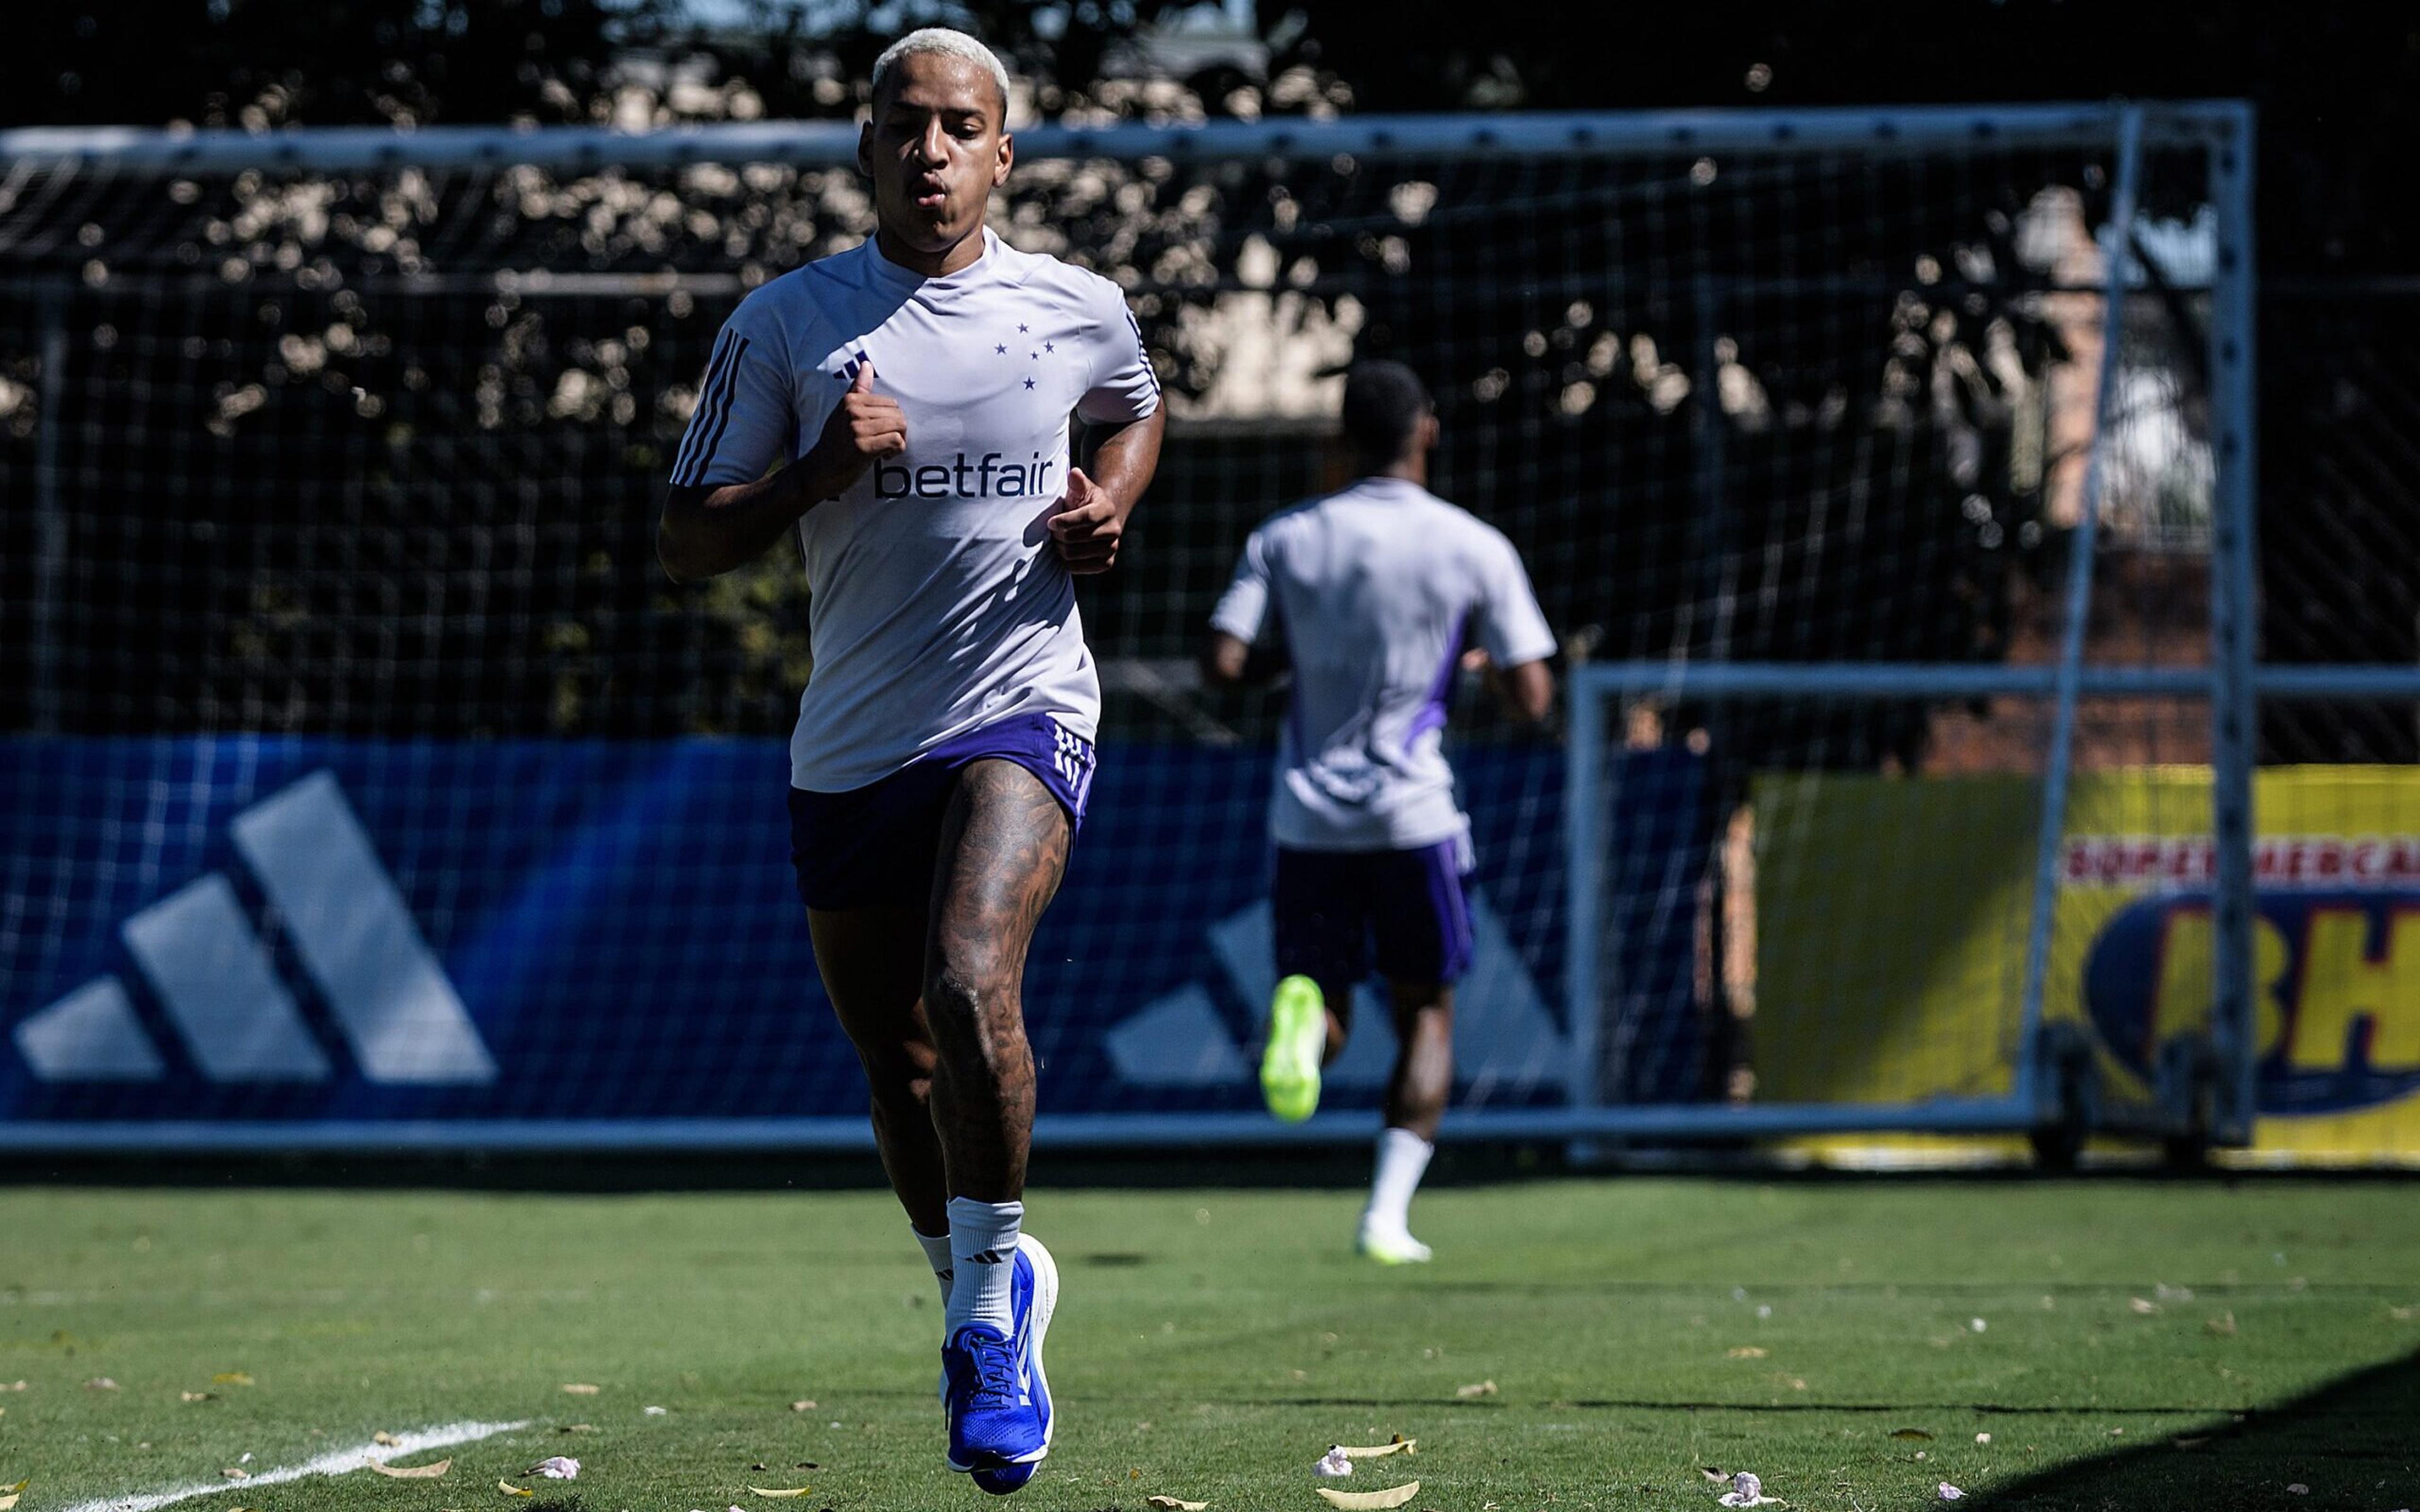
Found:
[[[1551, 1106], [1561, 760], [1479, 748], [1462, 774], [1479, 960], [1457, 1098]], [[862, 1142], [784, 779], [779, 740], [5, 740], [0, 1137], [578, 1125], [644, 1144], [825, 1120], [820, 1142]], [[1045, 1120], [1258, 1110], [1268, 779], [1258, 750], [1104, 750], [1026, 975]], [[1375, 1106], [1392, 1060], [1360, 1009], [1336, 1108]]]

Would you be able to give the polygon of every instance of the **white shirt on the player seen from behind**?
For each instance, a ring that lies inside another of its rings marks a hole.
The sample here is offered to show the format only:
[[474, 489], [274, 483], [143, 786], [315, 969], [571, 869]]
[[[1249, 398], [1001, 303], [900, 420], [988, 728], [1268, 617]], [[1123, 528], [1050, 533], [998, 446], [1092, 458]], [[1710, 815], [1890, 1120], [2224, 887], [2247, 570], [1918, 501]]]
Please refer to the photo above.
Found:
[[1459, 839], [1445, 694], [1464, 631], [1496, 665], [1554, 656], [1529, 573], [1500, 530], [1418, 484], [1367, 477], [1261, 523], [1210, 627], [1295, 663], [1268, 827], [1312, 852]]

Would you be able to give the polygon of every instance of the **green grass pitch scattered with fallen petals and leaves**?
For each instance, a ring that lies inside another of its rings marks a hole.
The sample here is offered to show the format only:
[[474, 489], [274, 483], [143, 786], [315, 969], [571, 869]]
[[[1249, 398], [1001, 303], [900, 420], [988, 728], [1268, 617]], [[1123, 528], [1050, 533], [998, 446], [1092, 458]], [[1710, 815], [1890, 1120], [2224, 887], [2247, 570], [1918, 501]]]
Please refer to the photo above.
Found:
[[[1036, 1190], [1060, 1439], [1014, 1505], [1321, 1512], [1312, 1461], [1399, 1432], [1416, 1456], [1343, 1485], [1677, 1510], [1716, 1507], [1716, 1466], [1863, 1512], [1938, 1505], [1941, 1481], [1994, 1507], [2420, 1505], [2413, 1185], [1447, 1188], [1413, 1207], [1425, 1270], [1355, 1260], [1355, 1210]], [[990, 1505], [941, 1468], [937, 1345], [878, 1193], [0, 1193], [19, 1512], [206, 1483], [182, 1505]], [[402, 1456], [450, 1456], [440, 1481], [223, 1478], [450, 1422], [523, 1427]], [[581, 1478], [496, 1488], [549, 1454]]]

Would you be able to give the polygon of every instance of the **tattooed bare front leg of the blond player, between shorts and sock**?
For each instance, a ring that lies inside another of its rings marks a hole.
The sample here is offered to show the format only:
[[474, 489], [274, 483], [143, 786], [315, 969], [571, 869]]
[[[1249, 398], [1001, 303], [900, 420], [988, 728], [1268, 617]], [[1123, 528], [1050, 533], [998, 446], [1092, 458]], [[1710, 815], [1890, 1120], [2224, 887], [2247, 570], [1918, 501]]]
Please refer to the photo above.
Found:
[[985, 760], [961, 772], [924, 941], [932, 1120], [953, 1198], [1016, 1202], [1026, 1190], [1026, 946], [1067, 871], [1067, 810], [1024, 767]]

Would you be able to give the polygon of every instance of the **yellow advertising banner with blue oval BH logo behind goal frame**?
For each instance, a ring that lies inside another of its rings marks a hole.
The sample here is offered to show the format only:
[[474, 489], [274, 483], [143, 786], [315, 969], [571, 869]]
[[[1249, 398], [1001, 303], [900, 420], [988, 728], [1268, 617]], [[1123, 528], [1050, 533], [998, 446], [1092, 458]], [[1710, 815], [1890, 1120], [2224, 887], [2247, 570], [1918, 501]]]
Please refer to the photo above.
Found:
[[[1754, 784], [1764, 1101], [2011, 1091], [2040, 789], [2018, 777]], [[2258, 774], [2258, 1164], [2420, 1164], [2420, 769]], [[2207, 1026], [2207, 767], [2076, 772], [2042, 1014], [2149, 1098]]]

